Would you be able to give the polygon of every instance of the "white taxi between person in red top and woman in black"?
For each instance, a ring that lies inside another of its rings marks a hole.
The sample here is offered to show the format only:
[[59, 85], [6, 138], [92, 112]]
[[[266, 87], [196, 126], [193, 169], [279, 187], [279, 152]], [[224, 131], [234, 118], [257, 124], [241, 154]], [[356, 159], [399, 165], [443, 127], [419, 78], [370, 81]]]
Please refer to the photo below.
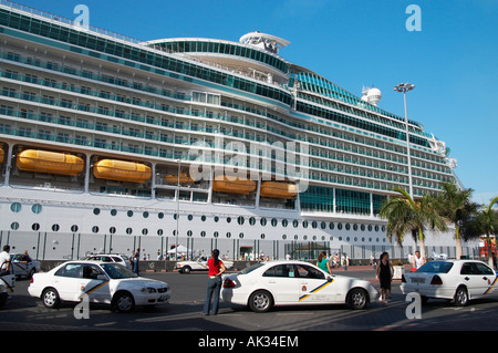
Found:
[[349, 304], [364, 309], [377, 297], [365, 280], [329, 274], [302, 261], [256, 263], [237, 274], [224, 276], [225, 302], [267, 312], [273, 305]]

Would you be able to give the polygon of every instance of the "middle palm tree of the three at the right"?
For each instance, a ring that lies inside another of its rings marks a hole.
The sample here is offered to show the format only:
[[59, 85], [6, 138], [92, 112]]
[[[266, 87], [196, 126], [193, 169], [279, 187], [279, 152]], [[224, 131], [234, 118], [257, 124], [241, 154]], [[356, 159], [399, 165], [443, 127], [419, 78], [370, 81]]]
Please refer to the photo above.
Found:
[[473, 189], [459, 189], [454, 181], [444, 183], [436, 197], [437, 209], [448, 224], [455, 226], [456, 258], [461, 257], [460, 227], [474, 211], [476, 204], [471, 201]]

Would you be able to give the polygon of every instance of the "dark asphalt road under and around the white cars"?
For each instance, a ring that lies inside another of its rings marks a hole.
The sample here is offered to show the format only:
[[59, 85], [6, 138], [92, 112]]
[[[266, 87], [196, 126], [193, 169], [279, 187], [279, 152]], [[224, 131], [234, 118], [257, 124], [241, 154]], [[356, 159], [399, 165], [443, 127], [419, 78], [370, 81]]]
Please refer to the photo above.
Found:
[[[373, 279], [373, 270], [347, 271], [340, 274]], [[498, 328], [498, 300], [487, 299], [456, 308], [444, 300], [429, 300], [422, 307], [421, 319], [408, 319], [409, 302], [400, 291], [400, 282], [393, 282], [388, 304], [373, 302], [367, 310], [352, 311], [345, 305], [292, 307], [257, 314], [247, 308], [220, 304], [216, 316], [201, 316], [206, 294], [205, 273], [179, 274], [143, 273], [166, 281], [173, 291], [168, 304], [155, 308], [137, 308], [128, 314], [112, 312], [105, 305], [91, 305], [89, 319], [75, 319], [75, 304], [63, 304], [55, 310], [45, 309], [40, 299], [30, 298], [29, 280], [18, 280], [12, 299], [0, 310], [2, 331], [168, 331], [227, 333], [271, 332], [304, 334], [315, 331], [496, 331]], [[197, 333], [195, 333], [197, 332]], [[191, 342], [190, 342], [191, 343]], [[291, 341], [292, 343], [292, 341]]]

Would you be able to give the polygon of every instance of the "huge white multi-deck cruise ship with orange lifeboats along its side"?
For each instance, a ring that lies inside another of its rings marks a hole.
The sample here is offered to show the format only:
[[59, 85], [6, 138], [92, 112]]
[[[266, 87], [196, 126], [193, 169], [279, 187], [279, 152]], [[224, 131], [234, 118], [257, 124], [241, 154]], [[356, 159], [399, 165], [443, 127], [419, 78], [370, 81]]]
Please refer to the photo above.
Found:
[[[11, 252], [405, 258], [417, 245], [387, 240], [382, 203], [457, 179], [445, 143], [378, 89], [291, 63], [276, 35], [142, 41], [1, 0], [0, 41]], [[450, 233], [426, 246], [455, 255]]]

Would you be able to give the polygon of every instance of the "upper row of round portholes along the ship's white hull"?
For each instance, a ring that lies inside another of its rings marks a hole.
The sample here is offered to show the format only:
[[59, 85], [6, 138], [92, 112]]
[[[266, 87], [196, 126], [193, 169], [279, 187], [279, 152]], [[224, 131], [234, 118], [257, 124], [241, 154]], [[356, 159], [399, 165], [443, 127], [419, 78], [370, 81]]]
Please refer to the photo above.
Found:
[[[11, 209], [13, 212], [19, 212], [19, 211], [21, 210], [21, 204], [19, 204], [19, 203], [13, 203], [13, 204], [10, 206], [10, 209]], [[40, 214], [41, 210], [42, 210], [42, 206], [41, 206], [40, 204], [34, 204], [34, 205], [31, 207], [31, 210], [32, 210], [34, 214]], [[94, 214], [95, 216], [98, 216], [98, 215], [101, 214], [101, 209], [100, 209], [100, 208], [94, 208], [94, 209], [93, 209], [93, 214]], [[111, 210], [111, 215], [112, 215], [112, 216], [116, 216], [116, 215], [117, 215], [117, 210], [116, 210], [116, 209], [112, 209], [112, 210]], [[128, 210], [128, 211], [126, 211], [126, 215], [127, 215], [128, 217], [133, 217], [133, 216], [134, 216], [134, 211], [133, 211], [133, 210]], [[144, 218], [148, 218], [149, 212], [148, 212], [148, 211], [144, 211], [142, 215], [143, 215]], [[158, 212], [158, 214], [157, 214], [157, 217], [158, 217], [159, 219], [163, 219], [163, 218], [164, 218], [164, 214], [163, 214], [163, 212]], [[176, 219], [177, 219], [177, 214], [174, 214], [174, 215], [173, 215], [173, 218], [176, 220]], [[193, 219], [194, 219], [194, 216], [193, 216], [193, 215], [188, 215], [188, 216], [187, 216], [187, 219], [188, 219], [188, 220], [193, 220]], [[201, 220], [201, 221], [206, 221], [206, 219], [207, 219], [206, 216], [200, 216], [200, 220]], [[218, 222], [218, 221], [219, 221], [219, 217], [218, 217], [218, 216], [215, 216], [215, 217], [212, 218], [212, 220], [214, 220], [215, 222]], [[227, 217], [227, 218], [226, 218], [226, 221], [227, 221], [227, 224], [231, 222], [231, 217]], [[246, 222], [246, 218], [245, 218], [243, 216], [239, 216], [239, 217], [237, 217], [237, 222], [241, 226], [241, 225], [243, 225], [243, 224]], [[255, 225], [256, 225], [256, 218], [255, 218], [255, 217], [250, 217], [248, 222], [249, 222], [249, 225], [255, 226]], [[262, 218], [259, 219], [259, 224], [260, 224], [261, 226], [263, 226], [263, 227], [267, 225], [267, 222], [268, 222], [268, 220], [267, 220], [267, 218], [264, 218], [264, 217], [262, 217]], [[279, 221], [278, 221], [277, 218], [272, 218], [272, 219], [270, 220], [270, 225], [273, 226], [273, 227], [277, 227], [277, 226], [278, 226], [278, 222], [279, 222]], [[292, 220], [292, 226], [293, 226], [294, 228], [298, 228], [298, 227], [299, 227], [299, 224], [300, 224], [299, 220], [297, 220], [297, 219]], [[287, 227], [287, 226], [289, 225], [289, 221], [288, 221], [287, 219], [282, 219], [282, 220], [281, 220], [281, 225], [282, 225], [282, 227]], [[308, 226], [309, 226], [309, 221], [308, 221], [308, 220], [303, 220], [303, 221], [302, 221], [302, 228], [308, 228]], [[328, 225], [326, 225], [325, 221], [320, 221], [320, 228], [321, 228], [321, 229], [326, 229], [326, 226], [328, 226]], [[311, 221], [311, 228], [317, 229], [318, 227], [319, 227], [319, 222], [318, 222], [317, 220]], [[333, 229], [335, 228], [334, 222], [332, 222], [332, 221], [329, 222], [329, 228], [330, 228], [331, 230], [333, 230]], [[338, 224], [338, 229], [339, 229], [339, 230], [342, 230], [342, 228], [343, 228], [342, 224], [339, 222], [339, 224]], [[351, 225], [350, 225], [350, 224], [345, 224], [344, 228], [345, 228], [345, 230], [351, 230]], [[357, 230], [357, 229], [359, 229], [359, 225], [353, 224], [353, 230]], [[378, 226], [372, 226], [372, 225], [369, 225], [369, 226], [360, 225], [360, 229], [361, 229], [362, 231], [365, 231], [366, 229], [367, 229], [369, 231], [372, 231], [373, 229], [375, 229], [375, 231], [378, 231], [380, 227], [378, 227]], [[385, 231], [385, 226], [382, 226], [382, 231]]]

